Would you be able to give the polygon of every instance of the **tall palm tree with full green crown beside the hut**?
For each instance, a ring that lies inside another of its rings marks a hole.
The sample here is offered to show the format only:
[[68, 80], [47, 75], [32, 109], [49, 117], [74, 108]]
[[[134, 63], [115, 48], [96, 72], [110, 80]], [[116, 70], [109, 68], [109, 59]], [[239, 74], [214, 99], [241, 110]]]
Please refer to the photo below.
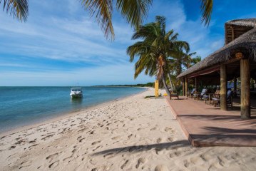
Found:
[[165, 90], [169, 93], [165, 82], [165, 73], [168, 71], [166, 65], [170, 56], [181, 56], [183, 47], [189, 51], [189, 45], [185, 41], [177, 41], [178, 33], [173, 30], [165, 31], [165, 17], [156, 16], [155, 22], [140, 26], [133, 33], [132, 39], [143, 39], [127, 48], [130, 62], [134, 61], [135, 56], [138, 56], [138, 61], [135, 63], [134, 78], [137, 78], [140, 73], [145, 71], [146, 75], [156, 76], [158, 81], [162, 80]]

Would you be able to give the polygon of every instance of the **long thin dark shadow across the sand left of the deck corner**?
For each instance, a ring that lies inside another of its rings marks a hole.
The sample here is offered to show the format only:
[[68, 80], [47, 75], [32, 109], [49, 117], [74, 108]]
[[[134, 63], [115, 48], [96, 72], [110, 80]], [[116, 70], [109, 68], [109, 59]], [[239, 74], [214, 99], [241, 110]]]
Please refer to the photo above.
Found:
[[118, 147], [118, 148], [103, 150], [100, 152], [95, 152], [93, 155], [103, 155], [105, 157], [107, 155], [118, 154], [123, 152], [142, 152], [142, 151], [148, 151], [151, 149], [160, 151], [163, 149], [169, 149], [169, 148], [175, 149], [178, 147], [185, 147], [185, 146], [190, 146], [190, 143], [188, 142], [188, 140], [178, 140], [174, 142], [165, 142], [165, 143], [152, 144], [152, 145], [133, 145], [133, 146], [127, 146], [127, 147]]

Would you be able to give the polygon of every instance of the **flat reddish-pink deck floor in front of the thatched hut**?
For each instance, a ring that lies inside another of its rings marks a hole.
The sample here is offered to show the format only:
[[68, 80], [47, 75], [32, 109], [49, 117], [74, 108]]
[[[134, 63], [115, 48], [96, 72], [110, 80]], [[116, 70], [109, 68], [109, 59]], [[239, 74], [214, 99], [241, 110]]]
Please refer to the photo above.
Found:
[[[166, 97], [173, 115], [194, 147], [256, 146], [256, 110], [252, 106], [252, 119], [240, 118], [239, 100], [227, 111], [184, 96], [180, 100]], [[256, 105], [256, 101], [251, 100]]]

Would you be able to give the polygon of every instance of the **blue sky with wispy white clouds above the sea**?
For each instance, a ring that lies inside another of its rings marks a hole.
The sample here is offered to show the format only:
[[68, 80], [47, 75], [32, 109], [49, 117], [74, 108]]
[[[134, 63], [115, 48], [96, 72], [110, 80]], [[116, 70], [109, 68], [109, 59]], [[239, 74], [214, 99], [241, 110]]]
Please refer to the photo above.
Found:
[[[0, 4], [2, 9], [3, 3]], [[224, 44], [224, 24], [256, 16], [254, 0], [215, 0], [209, 27], [200, 23], [199, 0], [154, 0], [148, 19], [167, 18], [167, 30], [190, 43], [205, 58]], [[106, 40], [94, 18], [78, 0], [29, 1], [25, 23], [0, 12], [0, 86], [81, 86], [153, 82], [142, 73], [133, 79], [126, 48], [133, 34], [113, 15], [115, 41]]]

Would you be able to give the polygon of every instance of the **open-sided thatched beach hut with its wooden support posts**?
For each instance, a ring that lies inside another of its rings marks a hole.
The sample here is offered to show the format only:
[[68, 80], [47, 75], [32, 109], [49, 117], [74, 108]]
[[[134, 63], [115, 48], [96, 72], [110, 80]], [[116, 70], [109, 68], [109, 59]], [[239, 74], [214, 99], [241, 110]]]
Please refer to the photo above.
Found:
[[[184, 85], [198, 81], [220, 85], [220, 108], [227, 110], [227, 81], [241, 80], [241, 117], [250, 118], [250, 78], [256, 78], [256, 19], [240, 19], [225, 23], [225, 46], [180, 73]], [[185, 93], [188, 86], [184, 86]]]

